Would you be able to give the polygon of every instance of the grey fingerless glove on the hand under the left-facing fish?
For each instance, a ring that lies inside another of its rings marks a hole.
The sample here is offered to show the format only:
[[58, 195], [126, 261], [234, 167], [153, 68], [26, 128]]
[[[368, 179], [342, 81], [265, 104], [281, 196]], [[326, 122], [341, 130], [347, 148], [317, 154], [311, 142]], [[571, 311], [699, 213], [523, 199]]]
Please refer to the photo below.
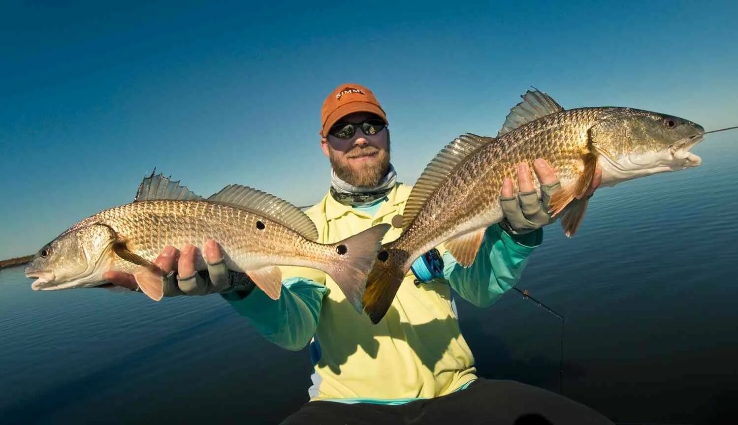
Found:
[[[164, 296], [227, 294], [232, 291], [251, 292], [254, 283], [245, 273], [228, 270], [224, 260], [207, 263], [207, 272], [195, 272], [180, 277], [172, 271], [164, 277]], [[242, 297], [245, 297], [243, 294]]]

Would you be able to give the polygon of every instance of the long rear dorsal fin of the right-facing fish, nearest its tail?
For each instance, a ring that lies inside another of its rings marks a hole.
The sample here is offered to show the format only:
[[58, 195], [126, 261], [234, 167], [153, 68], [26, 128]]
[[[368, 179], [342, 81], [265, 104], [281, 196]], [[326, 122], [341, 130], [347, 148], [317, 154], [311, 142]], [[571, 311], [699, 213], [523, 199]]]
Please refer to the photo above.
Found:
[[420, 178], [418, 178], [418, 182], [413, 186], [410, 197], [407, 198], [407, 204], [405, 204], [402, 213], [402, 228], [407, 229], [410, 226], [410, 223], [415, 220], [428, 198], [435, 193], [435, 190], [448, 179], [456, 168], [463, 164], [473, 152], [493, 140], [492, 137], [481, 137], [467, 133], [457, 137], [441, 149], [425, 167]]

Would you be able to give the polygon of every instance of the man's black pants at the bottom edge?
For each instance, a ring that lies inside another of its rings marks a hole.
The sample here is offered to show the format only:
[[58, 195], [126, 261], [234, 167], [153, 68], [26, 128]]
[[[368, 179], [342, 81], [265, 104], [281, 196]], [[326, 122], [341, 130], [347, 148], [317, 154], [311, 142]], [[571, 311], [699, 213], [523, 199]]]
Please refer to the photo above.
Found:
[[466, 390], [399, 406], [311, 401], [282, 425], [613, 424], [598, 412], [539, 387], [477, 379]]

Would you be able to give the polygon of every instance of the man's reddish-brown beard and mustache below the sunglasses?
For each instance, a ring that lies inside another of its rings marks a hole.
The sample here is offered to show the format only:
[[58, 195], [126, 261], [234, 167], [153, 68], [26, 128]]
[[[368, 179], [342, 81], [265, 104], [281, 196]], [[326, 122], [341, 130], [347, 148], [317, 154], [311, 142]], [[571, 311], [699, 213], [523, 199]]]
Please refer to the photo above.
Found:
[[345, 158], [340, 158], [336, 151], [328, 145], [331, 167], [339, 179], [356, 187], [374, 187], [382, 182], [390, 167], [390, 137], [387, 134], [387, 150], [367, 146], [365, 148], [354, 148], [345, 153], [345, 158], [365, 156], [376, 153], [373, 160], [363, 162], [360, 165], [352, 165]]

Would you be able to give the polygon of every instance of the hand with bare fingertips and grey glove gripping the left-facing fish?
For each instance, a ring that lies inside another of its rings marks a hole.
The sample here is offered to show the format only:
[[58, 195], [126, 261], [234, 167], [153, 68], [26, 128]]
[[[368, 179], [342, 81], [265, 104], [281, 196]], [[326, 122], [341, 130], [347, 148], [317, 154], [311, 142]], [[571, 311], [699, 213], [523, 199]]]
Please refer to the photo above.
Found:
[[[177, 251], [173, 246], [166, 246], [159, 257], [154, 260], [154, 264], [166, 273], [164, 276], [165, 297], [221, 294], [232, 291], [235, 280], [248, 280], [245, 274], [228, 271], [221, 247], [213, 239], [204, 244], [207, 273], [197, 272], [195, 258], [198, 251], [199, 249], [190, 244], [185, 245], [182, 251]], [[138, 290], [136, 279], [128, 273], [111, 270], [103, 274], [103, 279], [131, 291]]]

